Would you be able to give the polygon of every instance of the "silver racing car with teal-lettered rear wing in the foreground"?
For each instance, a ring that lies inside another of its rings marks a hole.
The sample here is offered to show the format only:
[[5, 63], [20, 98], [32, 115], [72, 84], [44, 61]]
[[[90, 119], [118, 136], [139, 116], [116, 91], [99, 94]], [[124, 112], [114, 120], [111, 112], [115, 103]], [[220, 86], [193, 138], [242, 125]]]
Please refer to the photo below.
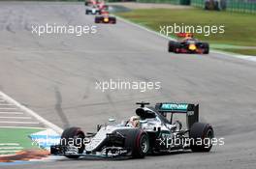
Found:
[[[210, 151], [213, 128], [209, 124], [198, 122], [198, 104], [161, 102], [155, 107], [145, 106], [149, 104], [146, 102], [137, 104], [141, 106], [136, 109], [136, 116], [121, 124], [114, 124], [114, 120], [110, 119], [112, 124], [98, 125], [97, 132], [87, 133], [80, 127], [66, 128], [61, 135], [60, 144], [50, 147], [50, 154], [69, 158], [141, 158], [147, 154], [176, 150]], [[183, 124], [176, 119], [176, 115], [184, 117]]]

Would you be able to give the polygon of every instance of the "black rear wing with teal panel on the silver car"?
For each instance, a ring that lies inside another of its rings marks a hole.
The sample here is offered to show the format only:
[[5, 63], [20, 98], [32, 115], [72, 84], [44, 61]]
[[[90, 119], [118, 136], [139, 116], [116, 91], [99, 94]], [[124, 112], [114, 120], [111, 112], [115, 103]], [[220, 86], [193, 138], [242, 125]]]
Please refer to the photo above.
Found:
[[161, 102], [156, 103], [155, 109], [163, 116], [166, 116], [167, 113], [172, 113], [171, 123], [173, 121], [173, 113], [185, 113], [189, 129], [199, 121], [199, 104]]

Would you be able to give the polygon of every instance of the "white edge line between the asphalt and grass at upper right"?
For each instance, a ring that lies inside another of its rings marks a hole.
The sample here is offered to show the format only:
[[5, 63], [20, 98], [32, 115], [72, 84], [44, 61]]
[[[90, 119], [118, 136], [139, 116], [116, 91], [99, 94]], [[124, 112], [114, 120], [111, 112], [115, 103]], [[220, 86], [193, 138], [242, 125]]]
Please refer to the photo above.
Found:
[[[138, 28], [141, 28], [144, 31], [147, 31], [149, 33], [155, 34], [155, 35], [160, 36], [162, 38], [165, 38], [167, 40], [176, 41], [176, 39], [173, 39], [171, 37], [168, 37], [168, 36], [165, 36], [163, 34], [160, 34], [159, 32], [150, 30], [149, 28], [146, 28], [146, 27], [144, 27], [144, 26], [142, 26], [140, 24], [134, 23], [134, 22], [132, 22], [130, 20], [127, 20], [127, 19], [125, 19], [123, 17], [117, 16], [117, 15], [115, 15], [115, 17], [117, 17], [119, 20], [122, 20], [125, 23], [131, 24], [131, 25], [136, 26]], [[256, 56], [241, 55], [241, 54], [237, 54], [237, 53], [224, 52], [224, 51], [215, 50], [215, 49], [212, 50], [212, 52], [210, 52], [210, 53], [222, 54], [222, 55], [231, 56], [231, 57], [235, 57], [235, 58], [246, 60], [246, 61], [256, 62]]]

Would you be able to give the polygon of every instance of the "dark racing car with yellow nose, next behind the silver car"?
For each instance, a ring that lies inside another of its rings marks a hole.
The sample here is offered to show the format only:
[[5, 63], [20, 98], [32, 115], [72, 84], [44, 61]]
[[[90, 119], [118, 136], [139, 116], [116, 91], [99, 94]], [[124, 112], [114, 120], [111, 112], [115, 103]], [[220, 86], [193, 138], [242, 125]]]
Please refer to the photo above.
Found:
[[175, 53], [198, 53], [208, 54], [208, 42], [201, 42], [193, 38], [192, 34], [180, 33], [178, 37], [185, 37], [181, 41], [170, 41], [168, 43], [168, 51]]

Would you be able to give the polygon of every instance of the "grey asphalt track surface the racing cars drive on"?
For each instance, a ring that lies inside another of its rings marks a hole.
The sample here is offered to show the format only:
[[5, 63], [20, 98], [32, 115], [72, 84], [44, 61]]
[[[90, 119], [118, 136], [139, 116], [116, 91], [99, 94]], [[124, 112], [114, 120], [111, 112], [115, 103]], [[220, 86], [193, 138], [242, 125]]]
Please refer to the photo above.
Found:
[[[31, 34], [31, 23], [94, 24], [82, 4], [0, 5], [0, 90], [59, 127], [93, 131], [109, 117], [127, 119], [136, 101], [200, 103], [200, 119], [225, 145], [208, 154], [179, 153], [130, 160], [61, 160], [4, 168], [255, 168], [256, 67], [229, 56], [167, 52], [168, 41], [117, 20], [75, 37]], [[161, 90], [105, 93], [96, 81], [160, 81]]]

